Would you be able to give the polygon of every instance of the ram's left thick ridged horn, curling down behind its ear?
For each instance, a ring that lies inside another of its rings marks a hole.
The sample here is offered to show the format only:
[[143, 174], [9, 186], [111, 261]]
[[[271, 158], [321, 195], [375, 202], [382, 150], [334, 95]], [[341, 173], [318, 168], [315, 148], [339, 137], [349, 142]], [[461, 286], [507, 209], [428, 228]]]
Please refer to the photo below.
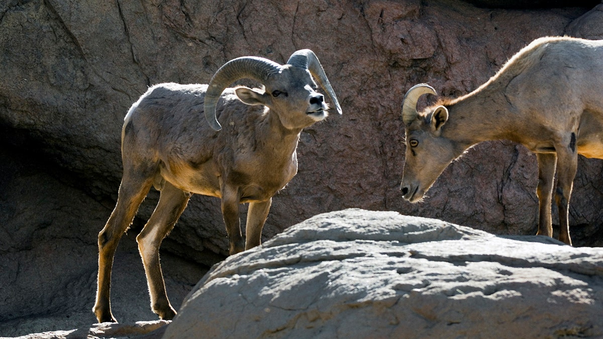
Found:
[[265, 83], [270, 75], [280, 71], [281, 65], [259, 57], [240, 57], [225, 63], [209, 81], [205, 94], [204, 111], [209, 125], [216, 131], [222, 129], [216, 118], [216, 104], [223, 90], [242, 78]]

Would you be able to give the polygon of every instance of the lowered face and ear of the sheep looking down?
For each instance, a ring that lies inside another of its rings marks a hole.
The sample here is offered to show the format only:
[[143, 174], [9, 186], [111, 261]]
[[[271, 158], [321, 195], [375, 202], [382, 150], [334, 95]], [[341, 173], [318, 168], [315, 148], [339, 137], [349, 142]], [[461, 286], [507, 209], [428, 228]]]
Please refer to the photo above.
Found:
[[458, 154], [450, 139], [441, 136], [448, 119], [446, 107], [418, 113], [406, 126], [406, 155], [400, 190], [411, 203], [423, 199], [428, 189]]

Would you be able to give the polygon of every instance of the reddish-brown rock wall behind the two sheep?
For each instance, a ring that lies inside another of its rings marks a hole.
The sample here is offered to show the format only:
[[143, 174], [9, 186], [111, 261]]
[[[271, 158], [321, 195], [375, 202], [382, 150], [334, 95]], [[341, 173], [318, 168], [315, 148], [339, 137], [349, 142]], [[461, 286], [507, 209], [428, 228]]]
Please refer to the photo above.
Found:
[[[398, 190], [399, 106], [413, 84], [461, 95], [537, 37], [603, 37], [596, 1], [548, 9], [480, 5], [486, 7], [459, 0], [1, 2], [0, 269], [9, 274], [0, 277], [0, 322], [63, 317], [74, 309], [86, 310], [78, 321], [93, 320], [96, 233], [115, 204], [128, 107], [151, 84], [207, 83], [241, 55], [283, 63], [295, 50], [311, 48], [344, 110], [302, 133], [299, 173], [274, 198], [264, 239], [312, 215], [350, 207], [535, 233], [535, 159], [510, 142], [473, 148], [421, 204], [406, 203]], [[570, 207], [578, 246], [601, 243], [602, 166], [579, 160]], [[156, 200], [151, 192], [129, 240], [122, 240], [124, 258], [137, 260], [132, 238]], [[163, 249], [206, 265], [224, 258], [219, 201], [193, 197]], [[196, 281], [176, 280], [182, 283], [176, 289]], [[71, 308], [75, 296], [81, 307]]]

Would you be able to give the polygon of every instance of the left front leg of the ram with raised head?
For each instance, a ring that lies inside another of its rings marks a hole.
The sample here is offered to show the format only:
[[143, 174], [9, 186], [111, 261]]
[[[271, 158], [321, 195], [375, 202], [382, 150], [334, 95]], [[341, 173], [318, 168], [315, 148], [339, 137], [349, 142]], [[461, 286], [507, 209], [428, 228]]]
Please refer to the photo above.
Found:
[[222, 189], [222, 217], [226, 225], [226, 233], [229, 239], [229, 254], [233, 255], [245, 250], [245, 241], [241, 233], [241, 221], [239, 220], [239, 203], [241, 196], [238, 188], [227, 185]]

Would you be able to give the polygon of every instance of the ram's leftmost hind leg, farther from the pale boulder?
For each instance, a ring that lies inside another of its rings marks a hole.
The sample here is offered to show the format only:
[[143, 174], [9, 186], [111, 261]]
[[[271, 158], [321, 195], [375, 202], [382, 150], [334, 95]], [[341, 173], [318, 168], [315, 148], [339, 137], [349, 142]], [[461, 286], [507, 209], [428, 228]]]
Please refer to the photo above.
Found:
[[119, 186], [117, 204], [107, 224], [98, 233], [98, 288], [96, 302], [92, 311], [99, 323], [117, 322], [111, 312], [110, 289], [113, 257], [119, 239], [128, 229], [142, 200], [151, 189], [152, 180], [140, 175], [142, 171], [124, 171]]

